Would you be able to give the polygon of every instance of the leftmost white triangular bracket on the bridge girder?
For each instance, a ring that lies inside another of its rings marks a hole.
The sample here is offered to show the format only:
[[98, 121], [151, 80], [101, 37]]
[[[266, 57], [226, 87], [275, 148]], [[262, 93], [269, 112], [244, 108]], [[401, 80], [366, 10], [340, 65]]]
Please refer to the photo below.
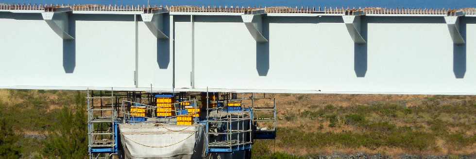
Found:
[[74, 39], [73, 36], [69, 34], [69, 15], [71, 15], [71, 9], [66, 8], [55, 8], [55, 11], [52, 12], [41, 12], [41, 17], [46, 21], [48, 26], [65, 40]]

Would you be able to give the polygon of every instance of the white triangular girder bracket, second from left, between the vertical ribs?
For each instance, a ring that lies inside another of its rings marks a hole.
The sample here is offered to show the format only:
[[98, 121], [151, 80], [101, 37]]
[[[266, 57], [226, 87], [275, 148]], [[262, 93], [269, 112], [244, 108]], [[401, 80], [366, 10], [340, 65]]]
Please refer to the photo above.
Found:
[[140, 16], [142, 17], [142, 20], [144, 21], [147, 28], [149, 28], [155, 37], [169, 38], [169, 36], [165, 35], [163, 32], [164, 22], [162, 13], [143, 13], [140, 14]]

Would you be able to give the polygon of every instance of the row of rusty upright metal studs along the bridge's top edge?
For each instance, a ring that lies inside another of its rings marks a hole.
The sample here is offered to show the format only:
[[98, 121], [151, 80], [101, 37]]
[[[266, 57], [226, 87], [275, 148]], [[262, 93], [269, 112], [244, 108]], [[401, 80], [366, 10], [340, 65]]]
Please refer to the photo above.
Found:
[[48, 8], [70, 8], [72, 11], [115, 11], [115, 12], [219, 12], [219, 13], [303, 13], [303, 14], [342, 14], [342, 15], [442, 15], [460, 16], [476, 15], [476, 8], [432, 9], [432, 8], [344, 8], [344, 7], [243, 7], [243, 6], [146, 6], [116, 4], [0, 4], [0, 10], [43, 10]]

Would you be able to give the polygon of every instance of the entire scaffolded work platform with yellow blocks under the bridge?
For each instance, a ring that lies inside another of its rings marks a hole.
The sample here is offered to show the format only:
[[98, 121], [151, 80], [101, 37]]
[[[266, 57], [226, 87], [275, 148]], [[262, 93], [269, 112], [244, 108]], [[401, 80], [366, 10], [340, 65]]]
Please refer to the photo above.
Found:
[[254, 93], [87, 92], [91, 159], [248, 159], [255, 140], [275, 138], [274, 99]]

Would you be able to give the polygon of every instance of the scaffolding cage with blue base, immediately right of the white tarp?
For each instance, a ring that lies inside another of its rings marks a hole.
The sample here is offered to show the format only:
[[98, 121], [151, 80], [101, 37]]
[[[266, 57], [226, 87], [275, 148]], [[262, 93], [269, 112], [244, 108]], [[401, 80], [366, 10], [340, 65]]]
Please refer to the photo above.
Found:
[[[245, 109], [242, 100], [230, 100], [228, 94], [213, 94], [216, 101], [206, 94], [206, 151], [231, 153], [251, 149], [252, 112]], [[222, 98], [221, 98], [222, 97]], [[228, 108], [228, 103], [239, 103], [238, 108]], [[212, 107], [209, 105], [213, 104]]]

